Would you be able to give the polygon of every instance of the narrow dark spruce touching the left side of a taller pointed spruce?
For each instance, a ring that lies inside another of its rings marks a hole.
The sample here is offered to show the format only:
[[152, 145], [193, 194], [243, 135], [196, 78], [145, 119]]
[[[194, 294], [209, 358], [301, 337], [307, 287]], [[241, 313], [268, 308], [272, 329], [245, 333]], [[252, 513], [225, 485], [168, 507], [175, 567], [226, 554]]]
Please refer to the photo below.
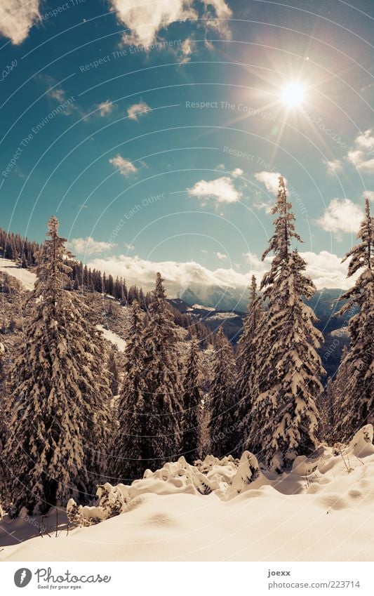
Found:
[[146, 468], [147, 399], [146, 352], [143, 342], [144, 314], [138, 300], [128, 309], [128, 334], [124, 353], [123, 388], [118, 401], [118, 432], [113, 443], [114, 477], [120, 482], [141, 478]]

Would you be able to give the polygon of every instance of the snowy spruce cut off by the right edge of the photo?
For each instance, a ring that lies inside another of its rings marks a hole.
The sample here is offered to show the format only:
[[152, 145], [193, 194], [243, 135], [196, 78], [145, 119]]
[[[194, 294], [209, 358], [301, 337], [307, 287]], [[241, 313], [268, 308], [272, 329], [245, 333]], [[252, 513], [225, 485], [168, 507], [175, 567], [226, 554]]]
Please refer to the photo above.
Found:
[[338, 423], [340, 440], [352, 437], [361, 426], [374, 420], [374, 218], [370, 215], [369, 200], [365, 200], [365, 217], [357, 237], [361, 243], [354, 246], [342, 262], [350, 259], [348, 277], [360, 272], [356, 284], [340, 297], [347, 303], [339, 314], [359, 309], [349, 321], [350, 349], [342, 359], [337, 381], [345, 378], [349, 369], [349, 382], [338, 397], [342, 417]]

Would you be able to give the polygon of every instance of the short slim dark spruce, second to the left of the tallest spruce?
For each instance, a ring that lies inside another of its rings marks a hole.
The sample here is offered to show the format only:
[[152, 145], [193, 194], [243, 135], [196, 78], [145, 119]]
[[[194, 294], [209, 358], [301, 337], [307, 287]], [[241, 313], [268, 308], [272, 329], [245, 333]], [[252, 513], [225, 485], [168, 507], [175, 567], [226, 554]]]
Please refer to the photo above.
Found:
[[236, 446], [236, 369], [234, 350], [225, 337], [222, 327], [215, 336], [213, 358], [213, 379], [208, 397], [210, 420], [208, 430], [211, 439], [211, 453], [224, 457], [232, 453]]

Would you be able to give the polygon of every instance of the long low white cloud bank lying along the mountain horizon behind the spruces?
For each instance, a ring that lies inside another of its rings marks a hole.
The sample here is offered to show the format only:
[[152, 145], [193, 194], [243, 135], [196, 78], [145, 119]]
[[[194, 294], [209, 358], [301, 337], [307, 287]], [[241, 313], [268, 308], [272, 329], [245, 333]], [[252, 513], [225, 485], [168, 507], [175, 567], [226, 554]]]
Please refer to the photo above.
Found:
[[[347, 263], [341, 263], [341, 257], [328, 251], [304, 252], [300, 253], [300, 256], [307, 261], [307, 273], [318, 289], [323, 287], [348, 289], [352, 286], [352, 278], [346, 279]], [[271, 260], [272, 258], [269, 257], [262, 262], [257, 255], [251, 254], [248, 256], [249, 271], [245, 274], [232, 268], [209, 270], [194, 261], [156, 263], [138, 256], [127, 255], [94, 258], [87, 264], [89, 267], [112, 273], [114, 276], [125, 277], [128, 284], [138, 284], [145, 288], [154, 286], [156, 272], [159, 271], [166, 280], [168, 295], [175, 296], [181, 288], [187, 288], [192, 284], [246, 289], [251, 275], [260, 279], [269, 269]]]

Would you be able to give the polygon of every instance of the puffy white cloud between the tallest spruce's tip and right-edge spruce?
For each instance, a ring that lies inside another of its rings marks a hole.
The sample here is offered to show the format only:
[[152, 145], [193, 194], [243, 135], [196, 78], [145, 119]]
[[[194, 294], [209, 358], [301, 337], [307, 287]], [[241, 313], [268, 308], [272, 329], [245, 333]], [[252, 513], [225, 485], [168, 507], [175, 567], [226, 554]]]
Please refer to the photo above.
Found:
[[349, 199], [332, 199], [323, 216], [316, 220], [323, 230], [340, 238], [340, 232], [358, 232], [363, 213], [361, 208]]

